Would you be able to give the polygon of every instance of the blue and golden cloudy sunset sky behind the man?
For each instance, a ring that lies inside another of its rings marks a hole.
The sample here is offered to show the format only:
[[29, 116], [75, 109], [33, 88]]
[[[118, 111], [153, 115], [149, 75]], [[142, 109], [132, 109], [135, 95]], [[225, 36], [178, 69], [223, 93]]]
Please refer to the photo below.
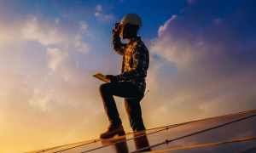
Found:
[[[0, 0], [0, 152], [99, 138], [93, 74], [117, 75], [114, 23], [128, 13], [149, 54], [141, 101], [147, 128], [256, 108], [253, 0]], [[125, 41], [123, 41], [125, 42]], [[125, 132], [123, 99], [115, 97]]]

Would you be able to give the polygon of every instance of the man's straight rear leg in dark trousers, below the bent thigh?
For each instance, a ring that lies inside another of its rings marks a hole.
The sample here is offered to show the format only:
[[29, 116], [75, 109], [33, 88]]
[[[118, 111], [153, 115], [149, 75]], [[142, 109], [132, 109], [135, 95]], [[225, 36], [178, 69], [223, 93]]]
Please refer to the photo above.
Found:
[[145, 130], [140, 99], [125, 99], [125, 110], [134, 132]]

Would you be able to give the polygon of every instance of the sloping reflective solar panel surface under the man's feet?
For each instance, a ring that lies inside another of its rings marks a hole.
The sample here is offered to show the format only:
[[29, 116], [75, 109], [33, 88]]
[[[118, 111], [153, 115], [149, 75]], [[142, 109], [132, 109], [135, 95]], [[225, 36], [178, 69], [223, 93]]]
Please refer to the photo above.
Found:
[[256, 110], [217, 116], [166, 127], [94, 139], [39, 152], [253, 152], [256, 151]]

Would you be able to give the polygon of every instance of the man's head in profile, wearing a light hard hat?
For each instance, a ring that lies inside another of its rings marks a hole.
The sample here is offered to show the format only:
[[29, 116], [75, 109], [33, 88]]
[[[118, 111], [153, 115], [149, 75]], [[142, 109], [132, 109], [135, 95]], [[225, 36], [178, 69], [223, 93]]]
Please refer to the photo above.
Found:
[[125, 38], [137, 37], [137, 31], [143, 26], [141, 18], [137, 14], [126, 14], [120, 23], [120, 36]]

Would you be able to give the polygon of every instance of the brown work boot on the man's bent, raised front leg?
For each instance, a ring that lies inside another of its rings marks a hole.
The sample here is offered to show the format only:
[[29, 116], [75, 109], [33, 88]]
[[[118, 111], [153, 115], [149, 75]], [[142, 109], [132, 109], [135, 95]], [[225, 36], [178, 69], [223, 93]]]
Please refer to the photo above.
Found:
[[125, 135], [125, 130], [122, 124], [120, 125], [109, 125], [108, 130], [105, 133], [102, 133], [100, 138], [101, 139], [109, 139], [113, 138], [115, 135]]

